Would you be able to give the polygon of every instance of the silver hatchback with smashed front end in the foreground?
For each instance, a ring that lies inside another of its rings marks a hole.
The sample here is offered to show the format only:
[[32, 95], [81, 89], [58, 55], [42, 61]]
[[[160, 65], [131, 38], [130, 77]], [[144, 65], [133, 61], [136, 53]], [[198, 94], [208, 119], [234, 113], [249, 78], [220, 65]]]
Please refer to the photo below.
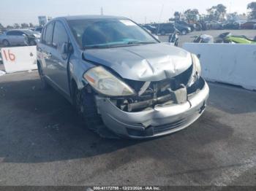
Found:
[[206, 108], [209, 88], [197, 56], [125, 17], [55, 18], [37, 50], [42, 86], [59, 90], [101, 136], [164, 136]]

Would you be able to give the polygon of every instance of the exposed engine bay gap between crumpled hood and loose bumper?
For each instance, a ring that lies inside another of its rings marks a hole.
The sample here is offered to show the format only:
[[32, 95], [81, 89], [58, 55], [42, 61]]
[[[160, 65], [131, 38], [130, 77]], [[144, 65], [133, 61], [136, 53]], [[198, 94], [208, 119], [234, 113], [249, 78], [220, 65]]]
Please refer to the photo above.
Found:
[[152, 109], [154, 106], [168, 104], [182, 104], [188, 100], [188, 95], [196, 93], [203, 88], [203, 79], [190, 87], [187, 83], [192, 75], [192, 67], [171, 79], [159, 82], [140, 82], [126, 79], [125, 82], [132, 87], [137, 95], [127, 98], [111, 98], [113, 104], [124, 112], [141, 112]]

